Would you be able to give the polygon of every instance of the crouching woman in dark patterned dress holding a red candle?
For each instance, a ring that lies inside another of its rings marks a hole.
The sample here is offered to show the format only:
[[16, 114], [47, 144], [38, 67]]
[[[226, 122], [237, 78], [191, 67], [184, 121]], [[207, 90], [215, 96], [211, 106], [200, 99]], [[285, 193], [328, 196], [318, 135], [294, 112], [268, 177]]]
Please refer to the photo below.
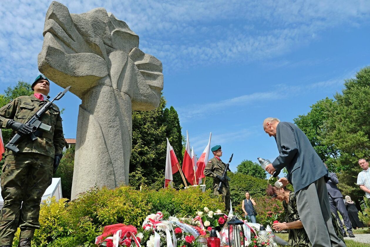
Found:
[[[288, 190], [286, 187], [277, 188], [275, 186], [268, 185], [266, 193], [272, 198], [282, 201], [285, 209], [285, 222], [274, 223], [272, 228], [275, 231], [286, 230], [289, 234], [288, 243], [291, 246], [311, 247], [312, 244], [310, 243], [305, 228], [303, 228], [303, 224], [299, 218], [297, 199], [294, 192]], [[333, 213], [332, 220], [337, 236], [343, 240], [342, 230], [340, 229], [339, 222]]]

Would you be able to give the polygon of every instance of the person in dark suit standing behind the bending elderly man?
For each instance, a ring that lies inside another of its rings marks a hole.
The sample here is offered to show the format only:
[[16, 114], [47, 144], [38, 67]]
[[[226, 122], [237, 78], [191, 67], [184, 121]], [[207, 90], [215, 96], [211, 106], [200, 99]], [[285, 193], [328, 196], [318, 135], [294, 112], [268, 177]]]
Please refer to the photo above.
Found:
[[329, 203], [330, 209], [333, 211], [337, 219], [340, 223], [340, 228], [342, 228], [343, 237], [347, 237], [346, 231], [344, 231], [342, 221], [338, 216], [338, 211], [343, 217], [344, 224], [346, 225], [348, 236], [350, 238], [354, 238], [354, 234], [352, 233], [352, 224], [348, 216], [348, 212], [346, 209], [346, 205], [344, 205], [343, 195], [340, 193], [337, 184], [339, 184], [339, 180], [337, 174], [330, 173], [330, 180], [326, 182], [327, 192], [329, 193]]

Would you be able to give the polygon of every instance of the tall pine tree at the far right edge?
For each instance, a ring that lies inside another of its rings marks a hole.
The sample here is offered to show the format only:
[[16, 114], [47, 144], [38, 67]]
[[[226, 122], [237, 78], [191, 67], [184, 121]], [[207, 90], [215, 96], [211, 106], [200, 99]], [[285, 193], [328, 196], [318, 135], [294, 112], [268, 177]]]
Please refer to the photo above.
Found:
[[324, 124], [323, 144], [339, 150], [339, 156], [331, 157], [337, 170], [349, 170], [359, 158], [370, 157], [370, 67], [345, 80], [342, 94], [336, 93], [336, 107]]

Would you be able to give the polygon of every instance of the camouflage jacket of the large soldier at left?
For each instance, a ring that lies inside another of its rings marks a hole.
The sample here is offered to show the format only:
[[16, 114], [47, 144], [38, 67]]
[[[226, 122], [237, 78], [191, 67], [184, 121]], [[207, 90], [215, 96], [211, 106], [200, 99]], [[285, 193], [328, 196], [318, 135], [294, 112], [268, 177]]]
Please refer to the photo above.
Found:
[[[44, 104], [34, 95], [20, 96], [10, 101], [0, 109], [0, 128], [6, 128], [10, 119], [20, 123], [26, 123]], [[58, 107], [53, 104], [54, 109], [49, 109], [41, 116], [41, 122], [51, 126], [50, 131], [44, 132], [43, 137], [38, 137], [32, 141], [29, 136], [25, 136], [17, 144], [20, 153], [39, 153], [54, 158], [55, 154], [61, 154], [64, 147], [64, 136], [62, 119]], [[56, 111], [55, 111], [56, 110]], [[13, 131], [13, 135], [15, 131]], [[13, 151], [6, 148], [5, 156], [13, 154]]]

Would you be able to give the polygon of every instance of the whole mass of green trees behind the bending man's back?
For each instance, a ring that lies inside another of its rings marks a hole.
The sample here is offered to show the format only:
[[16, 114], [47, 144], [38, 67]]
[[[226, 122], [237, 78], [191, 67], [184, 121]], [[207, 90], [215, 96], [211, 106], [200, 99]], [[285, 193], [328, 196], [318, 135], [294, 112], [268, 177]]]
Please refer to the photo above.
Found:
[[305, 132], [316, 152], [336, 172], [343, 196], [359, 203], [364, 192], [356, 185], [361, 171], [357, 160], [370, 157], [370, 67], [345, 80], [334, 100], [323, 99], [294, 121]]

